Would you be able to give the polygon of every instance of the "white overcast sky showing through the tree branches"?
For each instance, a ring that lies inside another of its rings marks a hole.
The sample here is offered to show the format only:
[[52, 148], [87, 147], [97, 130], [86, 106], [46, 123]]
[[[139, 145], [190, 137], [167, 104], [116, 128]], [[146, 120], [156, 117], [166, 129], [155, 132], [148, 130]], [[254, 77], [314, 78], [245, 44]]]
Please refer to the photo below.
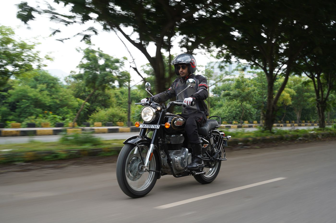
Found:
[[[29, 5], [35, 6], [35, 0], [25, 0]], [[5, 26], [11, 26], [15, 30], [15, 34], [19, 36], [21, 39], [25, 41], [29, 41], [35, 38], [37, 42], [41, 44], [37, 47], [37, 50], [41, 51], [41, 56], [51, 52], [51, 56], [54, 58], [52, 62], [46, 62], [48, 65], [45, 69], [59, 69], [66, 73], [70, 73], [72, 70], [76, 70], [76, 66], [80, 62], [82, 58], [82, 54], [76, 51], [76, 48], [86, 48], [86, 44], [84, 42], [80, 42], [81, 37], [77, 36], [70, 40], [64, 41], [64, 43], [60, 41], [56, 41], [56, 39], [63, 39], [73, 36], [74, 34], [81, 32], [82, 30], [88, 28], [89, 26], [94, 26], [98, 29], [99, 34], [92, 36], [92, 43], [95, 45], [94, 48], [100, 48], [104, 53], [107, 53], [111, 56], [121, 58], [126, 56], [130, 59], [130, 55], [125, 49], [122, 42], [118, 39], [114, 32], [106, 32], [102, 31], [102, 27], [97, 23], [91, 24], [74, 24], [66, 27], [63, 24], [55, 23], [49, 21], [46, 16], [35, 15], [36, 20], [29, 22], [30, 29], [27, 28], [22, 21], [16, 18], [17, 7], [15, 4], [20, 3], [21, 0], [1, 0], [0, 3], [0, 24]], [[41, 1], [43, 2], [43, 1]], [[49, 2], [49, 1], [48, 1]], [[41, 3], [43, 4], [43, 3]], [[53, 7], [62, 10], [62, 12], [68, 12], [67, 8], [63, 8], [58, 6], [57, 4], [52, 4]], [[50, 36], [53, 29], [60, 29], [61, 33]], [[131, 33], [132, 29], [125, 28], [125, 31], [128, 34]], [[143, 56], [143, 54], [133, 47], [127, 40], [125, 40], [121, 34], [119, 36], [123, 39], [124, 43], [127, 45], [128, 49], [132, 53], [136, 66], [140, 71], [141, 65], [148, 63], [148, 60]], [[132, 36], [132, 39], [135, 39], [136, 36]], [[183, 50], [178, 47], [177, 41], [173, 42], [173, 48], [171, 50], [172, 54], [183, 53]], [[155, 55], [155, 46], [154, 44], [150, 44], [148, 47], [148, 51], [151, 56]], [[199, 65], [205, 66], [208, 62], [210, 62], [209, 56], [202, 54], [202, 52], [197, 51], [198, 53], [195, 55], [198, 69], [197, 73], [201, 73], [201, 68]], [[168, 55], [168, 53], [165, 53]], [[132, 82], [137, 83], [141, 80], [141, 78], [129, 68], [129, 64], [126, 63], [124, 70], [129, 71], [132, 76]], [[141, 72], [141, 74], [143, 74]]]

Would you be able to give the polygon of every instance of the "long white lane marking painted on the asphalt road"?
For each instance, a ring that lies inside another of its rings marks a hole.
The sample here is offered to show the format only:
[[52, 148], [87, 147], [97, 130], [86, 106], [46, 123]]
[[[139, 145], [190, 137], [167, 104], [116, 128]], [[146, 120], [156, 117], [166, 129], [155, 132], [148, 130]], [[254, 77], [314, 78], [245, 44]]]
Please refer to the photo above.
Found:
[[216, 193], [213, 193], [213, 194], [208, 194], [208, 195], [203, 195], [203, 196], [196, 197], [196, 198], [187, 199], [187, 200], [184, 200], [184, 201], [178, 201], [178, 202], [174, 202], [174, 203], [171, 203], [171, 204], [158, 206], [158, 207], [155, 207], [155, 209], [160, 209], [161, 210], [161, 209], [171, 208], [171, 207], [175, 207], [175, 206], [178, 206], [178, 205], [182, 205], [182, 204], [186, 204], [186, 203], [190, 203], [190, 202], [194, 202], [194, 201], [199, 201], [199, 200], [206, 199], [206, 198], [215, 197], [215, 196], [218, 196], [218, 195], [227, 194], [227, 193], [234, 192], [234, 191], [240, 191], [240, 190], [247, 189], [247, 188], [252, 188], [252, 187], [259, 186], [259, 185], [262, 185], [262, 184], [265, 184], [265, 183], [271, 183], [271, 182], [286, 179], [286, 178], [287, 177], [278, 177], [278, 178], [274, 178], [274, 179], [270, 179], [270, 180], [261, 181], [261, 182], [258, 182], [258, 183], [252, 183], [252, 184], [248, 184], [248, 185], [238, 187], [238, 188], [233, 188], [233, 189], [229, 189], [229, 190], [225, 190], [225, 191], [216, 192]]

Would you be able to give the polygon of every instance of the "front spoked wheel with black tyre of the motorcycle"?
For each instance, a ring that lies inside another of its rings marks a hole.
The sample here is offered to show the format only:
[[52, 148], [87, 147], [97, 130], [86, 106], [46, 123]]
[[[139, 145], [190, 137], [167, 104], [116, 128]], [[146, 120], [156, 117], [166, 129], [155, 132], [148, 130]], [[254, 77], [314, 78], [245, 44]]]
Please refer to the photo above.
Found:
[[[126, 144], [117, 160], [117, 180], [121, 190], [129, 197], [140, 198], [148, 194], [155, 185], [157, 172], [145, 172], [141, 169], [148, 153], [148, 145]], [[141, 156], [140, 156], [141, 153]], [[159, 170], [159, 159], [156, 151], [149, 163], [149, 169]]]

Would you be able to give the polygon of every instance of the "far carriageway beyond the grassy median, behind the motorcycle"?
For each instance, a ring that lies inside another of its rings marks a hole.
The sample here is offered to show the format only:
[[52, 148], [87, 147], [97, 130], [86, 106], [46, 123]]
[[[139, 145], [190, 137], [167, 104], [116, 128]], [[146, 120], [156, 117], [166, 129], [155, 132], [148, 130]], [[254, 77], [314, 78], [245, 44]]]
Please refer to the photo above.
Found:
[[[295, 127], [295, 129], [313, 129], [316, 126], [302, 126], [302, 127]], [[277, 129], [277, 128], [274, 128]], [[293, 127], [281, 127], [279, 129], [290, 130]], [[242, 129], [227, 129], [227, 131], [235, 132], [241, 131]], [[244, 128], [245, 131], [255, 131], [256, 128]], [[104, 134], [94, 134], [95, 136], [101, 137], [103, 140], [109, 139], [127, 139], [131, 136], [135, 136], [138, 133], [131, 132], [131, 133], [104, 133]], [[234, 137], [234, 135], [232, 135]], [[23, 136], [23, 137], [0, 137], [0, 144], [9, 144], [9, 143], [26, 143], [30, 140], [42, 141], [42, 142], [55, 142], [58, 141], [60, 136]]]

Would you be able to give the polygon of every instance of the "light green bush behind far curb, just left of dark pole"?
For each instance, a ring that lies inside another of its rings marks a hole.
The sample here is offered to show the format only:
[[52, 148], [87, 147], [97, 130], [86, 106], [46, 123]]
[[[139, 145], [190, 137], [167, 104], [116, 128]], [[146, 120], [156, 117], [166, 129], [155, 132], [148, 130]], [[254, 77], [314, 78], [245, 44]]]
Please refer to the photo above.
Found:
[[117, 122], [126, 123], [127, 111], [114, 107], [98, 109], [98, 111], [89, 117], [89, 122], [91, 125], [93, 125], [95, 122], [101, 122], [103, 125], [105, 125], [107, 122], [113, 122], [113, 124], [116, 124]]

